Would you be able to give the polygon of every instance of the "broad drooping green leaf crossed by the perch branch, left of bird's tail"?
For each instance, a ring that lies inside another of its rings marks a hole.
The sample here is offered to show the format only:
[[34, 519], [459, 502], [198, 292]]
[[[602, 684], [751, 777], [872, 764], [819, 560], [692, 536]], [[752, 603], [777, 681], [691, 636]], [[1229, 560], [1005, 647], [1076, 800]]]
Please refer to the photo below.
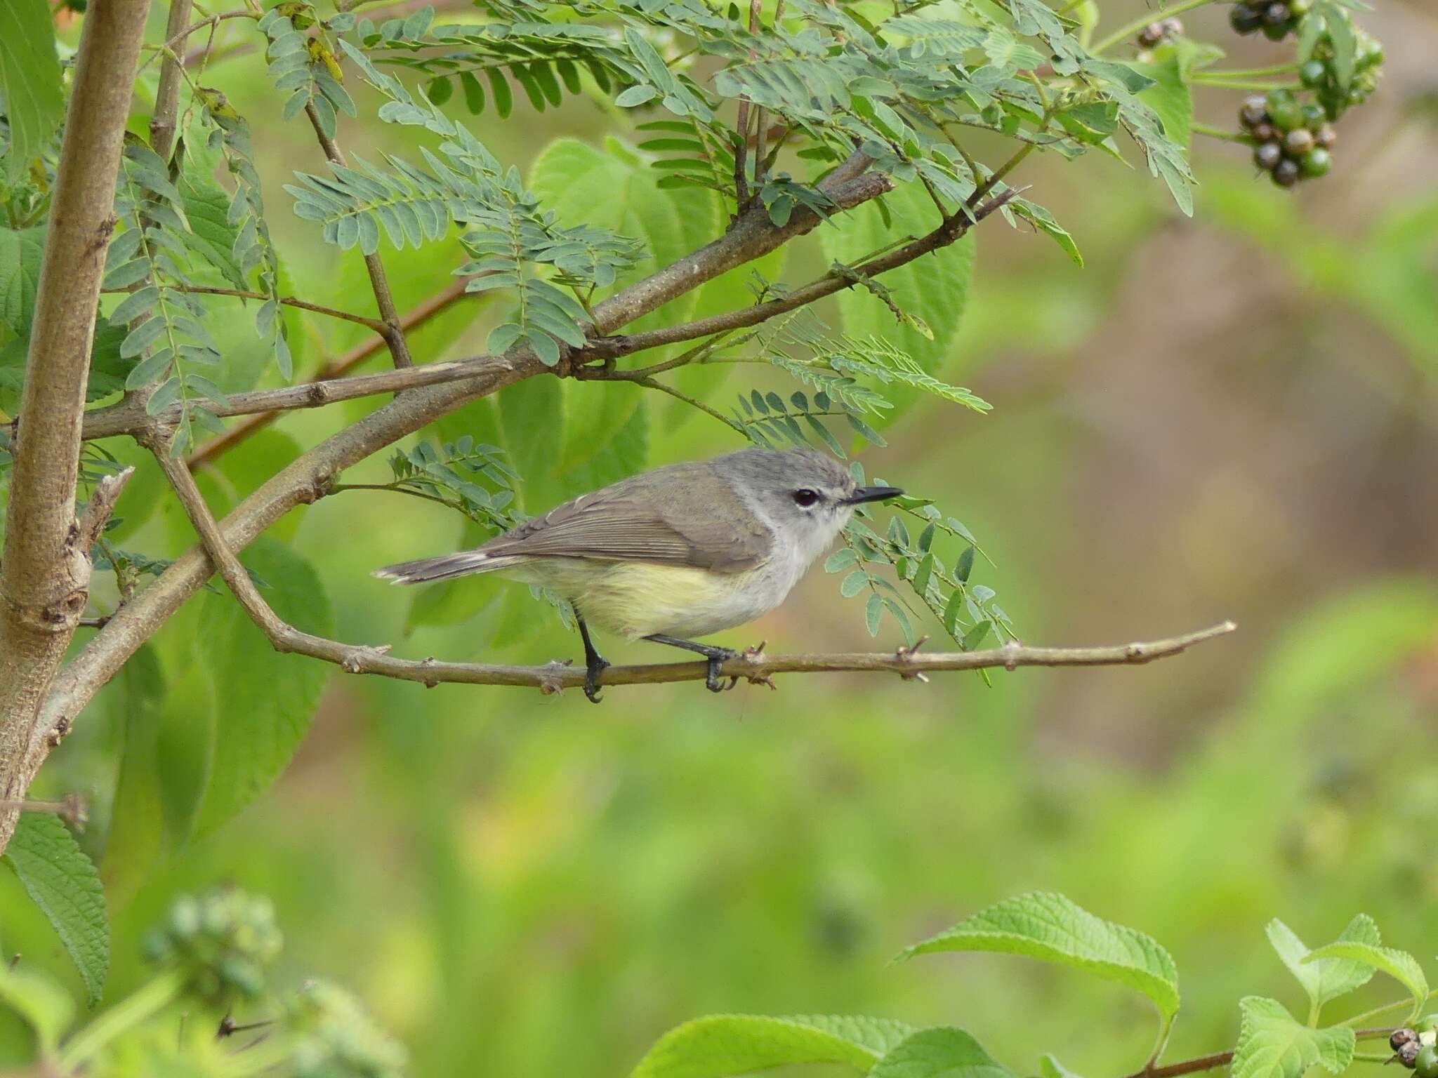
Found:
[[[329, 599], [308, 561], [265, 538], [243, 561], [267, 585], [262, 594], [279, 617], [305, 632], [332, 635]], [[201, 599], [198, 651], [214, 680], [216, 723], [197, 837], [214, 831], [279, 776], [334, 671], [315, 658], [276, 653], [229, 592]]]

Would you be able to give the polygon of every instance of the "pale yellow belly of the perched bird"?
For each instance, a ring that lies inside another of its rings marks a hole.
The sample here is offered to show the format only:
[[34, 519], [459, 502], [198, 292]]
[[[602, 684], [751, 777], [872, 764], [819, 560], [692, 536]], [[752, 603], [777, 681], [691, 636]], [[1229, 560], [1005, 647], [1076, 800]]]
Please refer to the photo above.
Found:
[[509, 575], [552, 588], [591, 627], [630, 640], [656, 632], [705, 637], [768, 614], [788, 594], [768, 579], [764, 566], [726, 573], [555, 558], [535, 559]]

